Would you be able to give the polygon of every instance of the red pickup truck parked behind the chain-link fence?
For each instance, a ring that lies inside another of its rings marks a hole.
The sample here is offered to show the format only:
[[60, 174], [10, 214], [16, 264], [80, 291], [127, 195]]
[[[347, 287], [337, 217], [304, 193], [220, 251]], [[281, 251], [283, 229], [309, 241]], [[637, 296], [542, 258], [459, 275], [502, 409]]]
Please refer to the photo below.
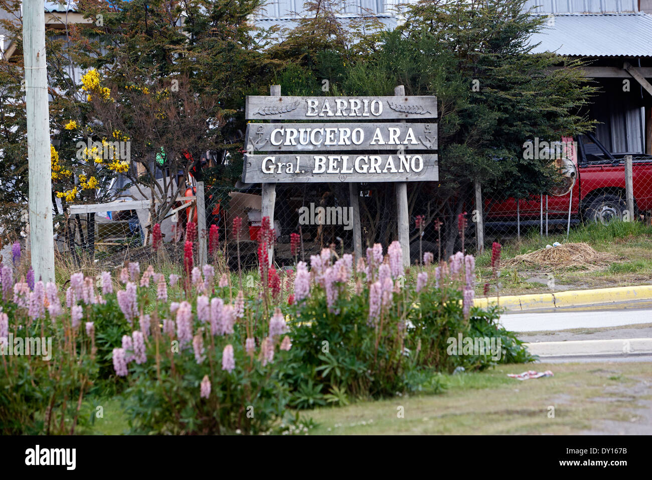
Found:
[[[576, 142], [573, 142], [575, 140]], [[625, 210], [625, 160], [627, 153], [611, 153], [595, 138], [580, 135], [563, 138], [562, 143], [574, 145], [567, 149], [568, 188], [572, 184], [571, 223], [622, 219]], [[652, 155], [633, 153], [632, 176], [634, 187], [634, 215], [652, 210]], [[572, 163], [571, 163], [572, 162]], [[573, 182], [574, 179], [574, 182]], [[559, 193], [562, 193], [562, 189]], [[571, 195], [548, 195], [548, 224], [565, 225], [569, 216]], [[516, 224], [539, 225], [541, 214], [545, 216], [546, 196], [536, 195], [530, 199], [507, 199], [501, 202], [485, 199], [485, 227], [507, 227]], [[630, 217], [634, 217], [630, 214]], [[544, 220], [545, 221], [545, 220]]]

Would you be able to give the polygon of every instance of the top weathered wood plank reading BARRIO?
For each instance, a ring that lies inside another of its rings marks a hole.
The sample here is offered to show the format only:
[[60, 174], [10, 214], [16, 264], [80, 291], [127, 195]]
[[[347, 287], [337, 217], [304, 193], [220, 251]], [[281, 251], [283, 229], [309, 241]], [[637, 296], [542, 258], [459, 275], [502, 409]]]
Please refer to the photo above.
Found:
[[434, 95], [400, 97], [246, 97], [247, 120], [393, 120], [437, 118]]

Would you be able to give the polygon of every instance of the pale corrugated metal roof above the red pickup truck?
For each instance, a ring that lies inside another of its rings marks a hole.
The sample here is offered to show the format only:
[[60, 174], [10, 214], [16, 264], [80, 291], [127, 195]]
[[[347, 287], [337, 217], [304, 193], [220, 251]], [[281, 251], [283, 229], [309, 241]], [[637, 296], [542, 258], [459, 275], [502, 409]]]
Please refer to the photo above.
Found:
[[652, 56], [652, 15], [554, 15], [540, 32], [532, 35], [530, 44], [539, 42], [533, 52], [587, 57]]

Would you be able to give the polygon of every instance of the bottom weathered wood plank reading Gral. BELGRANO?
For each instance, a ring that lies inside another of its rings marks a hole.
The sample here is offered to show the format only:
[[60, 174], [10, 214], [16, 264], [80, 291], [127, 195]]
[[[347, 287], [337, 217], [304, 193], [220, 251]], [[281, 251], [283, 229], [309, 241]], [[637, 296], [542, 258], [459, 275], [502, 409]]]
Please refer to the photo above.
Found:
[[243, 182], [435, 182], [436, 153], [244, 155]]

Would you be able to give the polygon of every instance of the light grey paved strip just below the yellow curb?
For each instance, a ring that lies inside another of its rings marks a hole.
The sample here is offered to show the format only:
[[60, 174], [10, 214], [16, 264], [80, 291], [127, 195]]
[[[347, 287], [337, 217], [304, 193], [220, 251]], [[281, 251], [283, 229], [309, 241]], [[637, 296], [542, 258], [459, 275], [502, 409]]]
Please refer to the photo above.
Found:
[[569, 328], [602, 328], [652, 323], [652, 308], [591, 312], [505, 313], [500, 323], [512, 332], [540, 332]]

